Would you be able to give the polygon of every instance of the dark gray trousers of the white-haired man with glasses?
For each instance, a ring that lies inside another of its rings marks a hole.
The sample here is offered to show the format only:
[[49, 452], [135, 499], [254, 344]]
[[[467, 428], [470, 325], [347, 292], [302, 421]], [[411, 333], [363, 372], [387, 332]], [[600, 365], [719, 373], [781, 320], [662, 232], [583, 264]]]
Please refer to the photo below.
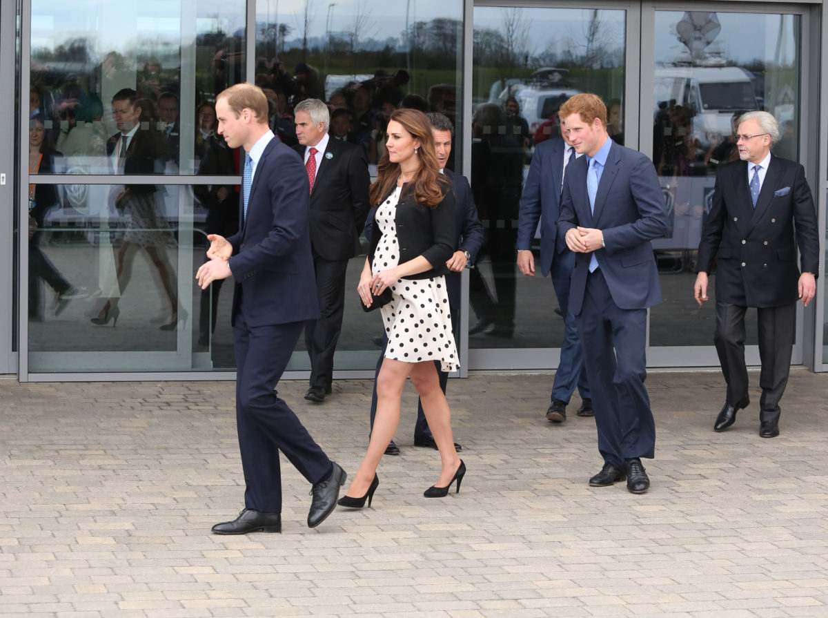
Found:
[[[748, 394], [748, 369], [744, 364], [744, 314], [748, 307], [716, 302], [716, 353], [727, 383], [727, 403], [737, 403]], [[779, 422], [779, 401], [791, 372], [791, 355], [797, 326], [797, 303], [782, 307], [758, 307], [759, 420]]]

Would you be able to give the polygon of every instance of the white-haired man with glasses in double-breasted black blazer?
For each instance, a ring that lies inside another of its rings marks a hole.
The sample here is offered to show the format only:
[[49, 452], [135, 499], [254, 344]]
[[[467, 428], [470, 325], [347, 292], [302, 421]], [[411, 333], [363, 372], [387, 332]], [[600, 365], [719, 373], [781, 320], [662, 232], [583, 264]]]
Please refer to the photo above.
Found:
[[791, 369], [797, 299], [807, 306], [816, 294], [820, 241], [805, 169], [771, 154], [779, 138], [776, 119], [768, 112], [748, 112], [737, 125], [740, 161], [716, 171], [694, 292], [699, 305], [708, 299], [708, 273], [715, 261], [714, 342], [727, 397], [713, 430], [733, 425], [739, 409], [750, 403], [744, 314], [756, 307], [762, 360], [759, 436], [776, 437], [779, 400]]

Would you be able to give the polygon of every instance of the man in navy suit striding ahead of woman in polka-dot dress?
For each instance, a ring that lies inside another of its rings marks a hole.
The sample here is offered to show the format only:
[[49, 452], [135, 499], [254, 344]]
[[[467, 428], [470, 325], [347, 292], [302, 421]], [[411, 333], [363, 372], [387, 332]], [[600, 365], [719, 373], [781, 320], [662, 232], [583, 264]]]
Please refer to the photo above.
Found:
[[310, 185], [301, 157], [267, 127], [267, 98], [253, 84], [235, 84], [216, 99], [219, 133], [243, 147], [239, 230], [210, 234], [202, 289], [233, 274], [236, 424], [246, 490], [244, 509], [215, 534], [282, 531], [279, 451], [313, 484], [307, 523], [333, 511], [346, 474], [313, 441], [276, 386], [306, 320], [319, 315], [308, 236]]

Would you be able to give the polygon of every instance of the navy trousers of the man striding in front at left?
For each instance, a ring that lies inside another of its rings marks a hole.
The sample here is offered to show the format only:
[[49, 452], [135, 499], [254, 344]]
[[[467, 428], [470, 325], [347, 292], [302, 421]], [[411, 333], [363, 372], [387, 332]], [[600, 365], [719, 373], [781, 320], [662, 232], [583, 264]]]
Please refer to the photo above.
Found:
[[243, 304], [236, 316], [236, 424], [244, 471], [244, 505], [262, 513], [282, 512], [279, 451], [310, 483], [330, 475], [331, 462], [296, 414], [278, 398], [303, 322], [248, 326]]

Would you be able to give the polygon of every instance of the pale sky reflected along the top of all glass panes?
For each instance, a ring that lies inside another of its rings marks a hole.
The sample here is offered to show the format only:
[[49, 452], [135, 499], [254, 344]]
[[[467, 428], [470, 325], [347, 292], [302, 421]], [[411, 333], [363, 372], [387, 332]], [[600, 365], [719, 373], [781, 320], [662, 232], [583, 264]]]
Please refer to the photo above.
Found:
[[[462, 0], [307, 0], [310, 36], [325, 36], [331, 31], [347, 31], [355, 13], [365, 18], [365, 35], [379, 40], [398, 37], [409, 23], [428, 22], [435, 17], [461, 19]], [[259, 21], [282, 22], [291, 27], [291, 35], [301, 36], [306, 0], [258, 0]], [[178, 46], [181, 24], [196, 24], [197, 31], [215, 29], [233, 33], [245, 23], [244, 0], [33, 0], [32, 48], [53, 49], [67, 39], [90, 36], [99, 53], [109, 50], [128, 51], [137, 37]], [[562, 8], [523, 8], [526, 38], [530, 54], [546, 50], [560, 52], [568, 41], [583, 38], [584, 23], [591, 11]], [[503, 8], [474, 9], [475, 27], [503, 29]], [[623, 33], [623, 11], [601, 11], [606, 31], [612, 41]], [[676, 40], [675, 24], [681, 11], [656, 13], [655, 57], [669, 60], [684, 49]], [[718, 12], [721, 31], [714, 46], [724, 57], [737, 62], [755, 58], [775, 60], [779, 34], [779, 16], [751, 13]], [[798, 22], [797, 22], [798, 23]], [[782, 38], [783, 61], [795, 57], [797, 40], [793, 36], [793, 20], [786, 20]], [[749, 33], [749, 36], [745, 36]]]

